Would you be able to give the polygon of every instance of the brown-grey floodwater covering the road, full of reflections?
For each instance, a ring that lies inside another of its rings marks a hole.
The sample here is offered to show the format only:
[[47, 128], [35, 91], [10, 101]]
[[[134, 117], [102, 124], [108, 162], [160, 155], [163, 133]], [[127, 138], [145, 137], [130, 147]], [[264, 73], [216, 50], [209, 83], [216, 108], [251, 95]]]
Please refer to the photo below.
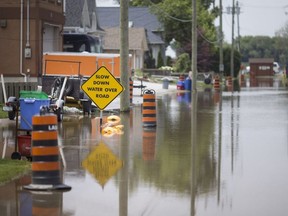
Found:
[[[72, 189], [23, 190], [28, 174], [0, 187], [1, 215], [287, 215], [288, 90], [281, 80], [254, 84], [192, 97], [156, 91], [157, 126], [142, 127], [138, 105], [111, 137], [95, 116], [66, 117], [58, 142]], [[1, 124], [6, 157], [13, 130]]]

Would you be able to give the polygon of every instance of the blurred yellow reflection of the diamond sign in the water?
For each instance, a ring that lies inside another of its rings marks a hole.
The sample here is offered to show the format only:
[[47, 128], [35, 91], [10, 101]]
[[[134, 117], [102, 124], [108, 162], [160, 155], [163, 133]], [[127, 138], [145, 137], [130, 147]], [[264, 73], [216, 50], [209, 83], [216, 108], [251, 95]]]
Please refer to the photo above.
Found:
[[85, 158], [82, 166], [88, 170], [103, 187], [123, 166], [123, 162], [113, 154], [105, 143], [100, 142], [87, 158]]

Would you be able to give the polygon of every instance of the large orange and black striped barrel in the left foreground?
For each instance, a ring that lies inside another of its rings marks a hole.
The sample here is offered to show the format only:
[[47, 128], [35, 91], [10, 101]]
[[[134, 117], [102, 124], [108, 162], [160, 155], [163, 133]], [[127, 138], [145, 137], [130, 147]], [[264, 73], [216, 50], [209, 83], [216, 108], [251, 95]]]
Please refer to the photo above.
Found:
[[70, 190], [61, 182], [61, 163], [58, 147], [57, 116], [54, 114], [32, 117], [32, 183], [28, 190]]

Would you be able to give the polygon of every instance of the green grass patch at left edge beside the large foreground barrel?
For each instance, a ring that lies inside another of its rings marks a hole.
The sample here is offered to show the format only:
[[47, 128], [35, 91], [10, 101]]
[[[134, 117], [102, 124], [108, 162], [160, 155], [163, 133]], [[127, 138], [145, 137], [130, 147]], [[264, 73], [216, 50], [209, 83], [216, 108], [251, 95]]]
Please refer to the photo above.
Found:
[[24, 160], [0, 159], [0, 185], [12, 181], [31, 167], [31, 162]]

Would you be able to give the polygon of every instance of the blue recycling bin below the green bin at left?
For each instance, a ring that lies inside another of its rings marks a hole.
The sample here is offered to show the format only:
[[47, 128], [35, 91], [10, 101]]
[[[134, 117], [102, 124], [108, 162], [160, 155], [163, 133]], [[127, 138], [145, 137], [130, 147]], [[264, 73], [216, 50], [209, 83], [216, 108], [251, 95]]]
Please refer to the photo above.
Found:
[[32, 130], [32, 117], [40, 113], [42, 106], [49, 107], [50, 99], [20, 98], [20, 129]]

